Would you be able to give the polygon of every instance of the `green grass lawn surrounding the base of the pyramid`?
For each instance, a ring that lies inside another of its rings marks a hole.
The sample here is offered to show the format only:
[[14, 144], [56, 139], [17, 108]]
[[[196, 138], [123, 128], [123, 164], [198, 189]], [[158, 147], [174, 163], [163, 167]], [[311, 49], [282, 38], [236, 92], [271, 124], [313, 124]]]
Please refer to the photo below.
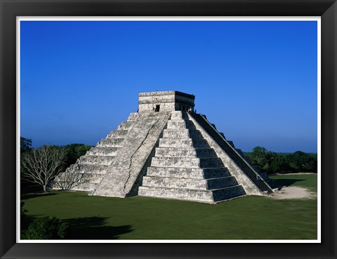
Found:
[[[271, 178], [317, 192], [317, 175]], [[22, 201], [30, 219], [48, 215], [67, 221], [67, 239], [317, 239], [317, 199], [247, 196], [201, 204], [55, 191]]]

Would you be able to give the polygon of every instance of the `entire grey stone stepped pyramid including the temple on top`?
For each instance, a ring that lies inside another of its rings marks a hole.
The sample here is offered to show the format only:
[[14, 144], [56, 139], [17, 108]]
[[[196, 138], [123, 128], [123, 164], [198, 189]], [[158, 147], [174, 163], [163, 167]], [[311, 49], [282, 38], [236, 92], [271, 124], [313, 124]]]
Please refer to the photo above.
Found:
[[105, 197], [205, 203], [272, 194], [267, 174], [251, 165], [205, 115], [194, 112], [194, 98], [179, 91], [139, 93], [138, 112], [55, 183], [72, 179], [67, 189]]

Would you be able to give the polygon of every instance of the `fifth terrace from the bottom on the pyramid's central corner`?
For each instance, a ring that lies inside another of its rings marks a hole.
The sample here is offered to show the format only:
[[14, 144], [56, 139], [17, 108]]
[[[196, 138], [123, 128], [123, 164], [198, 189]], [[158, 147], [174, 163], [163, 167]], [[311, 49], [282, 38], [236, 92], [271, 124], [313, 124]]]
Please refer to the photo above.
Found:
[[155, 157], [216, 157], [209, 147], [157, 147]]

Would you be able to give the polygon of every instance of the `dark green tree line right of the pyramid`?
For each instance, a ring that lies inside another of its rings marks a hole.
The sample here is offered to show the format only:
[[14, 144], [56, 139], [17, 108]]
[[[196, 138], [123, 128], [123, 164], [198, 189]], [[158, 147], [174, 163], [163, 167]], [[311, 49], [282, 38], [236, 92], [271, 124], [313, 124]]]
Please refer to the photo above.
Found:
[[317, 154], [302, 151], [276, 153], [258, 146], [245, 155], [267, 173], [317, 173]]

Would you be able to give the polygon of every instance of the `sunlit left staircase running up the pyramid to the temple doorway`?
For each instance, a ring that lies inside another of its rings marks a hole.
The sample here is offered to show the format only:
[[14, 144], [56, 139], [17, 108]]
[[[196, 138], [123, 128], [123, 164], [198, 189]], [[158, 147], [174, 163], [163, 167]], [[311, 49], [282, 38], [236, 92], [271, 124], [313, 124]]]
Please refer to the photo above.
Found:
[[[150, 166], [151, 157], [169, 120], [169, 114], [170, 112], [138, 113], [109, 170], [90, 194], [107, 197], [130, 197], [138, 194], [138, 187], [146, 168]], [[126, 121], [126, 124], [129, 125], [130, 122]]]

